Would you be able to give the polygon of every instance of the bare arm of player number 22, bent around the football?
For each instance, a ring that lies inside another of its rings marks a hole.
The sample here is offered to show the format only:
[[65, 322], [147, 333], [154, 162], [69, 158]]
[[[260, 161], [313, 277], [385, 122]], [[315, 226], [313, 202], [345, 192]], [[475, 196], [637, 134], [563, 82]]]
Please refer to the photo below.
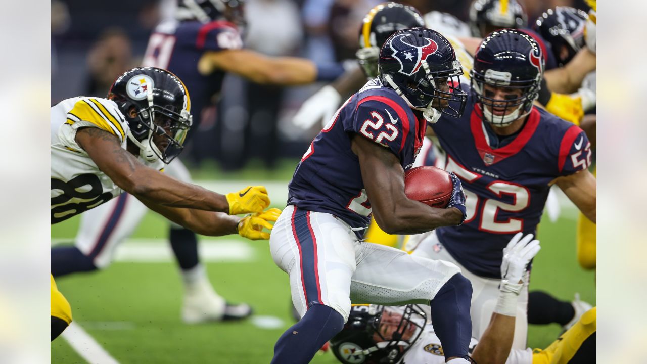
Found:
[[388, 149], [355, 135], [351, 142], [360, 160], [364, 187], [377, 225], [389, 234], [419, 234], [437, 227], [458, 225], [458, 209], [435, 209], [404, 194], [404, 170]]

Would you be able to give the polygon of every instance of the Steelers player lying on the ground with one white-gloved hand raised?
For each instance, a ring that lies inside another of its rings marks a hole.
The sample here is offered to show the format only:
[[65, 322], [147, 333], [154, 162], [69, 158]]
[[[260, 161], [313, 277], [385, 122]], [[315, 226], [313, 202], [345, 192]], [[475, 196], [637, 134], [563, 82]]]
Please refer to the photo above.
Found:
[[[470, 341], [472, 359], [479, 364], [594, 363], [595, 308], [545, 350], [510, 350], [521, 289], [517, 282], [527, 279], [525, 267], [539, 250], [531, 234], [521, 235], [516, 234], [504, 250], [497, 307], [481, 339]], [[426, 317], [424, 308], [416, 304], [354, 306], [344, 330], [331, 339], [331, 350], [344, 364], [444, 363], [443, 346]]]

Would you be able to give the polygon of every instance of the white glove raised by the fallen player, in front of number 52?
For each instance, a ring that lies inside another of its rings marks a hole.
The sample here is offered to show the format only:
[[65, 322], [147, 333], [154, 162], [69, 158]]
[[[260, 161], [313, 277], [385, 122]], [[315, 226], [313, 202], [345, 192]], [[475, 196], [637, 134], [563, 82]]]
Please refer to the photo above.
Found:
[[501, 263], [501, 279], [503, 282], [518, 284], [525, 273], [526, 267], [541, 249], [539, 240], [532, 240], [532, 234], [523, 236], [523, 239], [521, 236], [523, 236], [523, 233], [516, 233], [510, 239], [508, 246], [503, 248], [503, 262]]

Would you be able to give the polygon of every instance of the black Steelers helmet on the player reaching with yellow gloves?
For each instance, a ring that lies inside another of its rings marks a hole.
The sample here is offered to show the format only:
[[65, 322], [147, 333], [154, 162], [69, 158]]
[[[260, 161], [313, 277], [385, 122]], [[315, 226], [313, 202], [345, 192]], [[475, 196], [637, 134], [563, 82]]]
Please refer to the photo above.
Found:
[[[191, 99], [182, 81], [164, 69], [137, 67], [119, 76], [108, 98], [128, 122], [128, 139], [147, 161], [170, 163], [180, 152], [193, 122]], [[131, 117], [135, 108], [137, 116]], [[159, 142], [153, 142], [153, 139]]]

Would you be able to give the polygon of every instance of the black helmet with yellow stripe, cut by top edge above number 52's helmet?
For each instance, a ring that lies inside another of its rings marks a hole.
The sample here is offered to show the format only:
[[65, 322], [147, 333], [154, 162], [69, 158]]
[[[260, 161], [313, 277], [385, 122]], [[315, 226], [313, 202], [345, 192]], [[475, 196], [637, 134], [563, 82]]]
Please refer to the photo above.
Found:
[[517, 0], [474, 0], [470, 6], [472, 36], [485, 38], [502, 28], [525, 28], [528, 17]]

